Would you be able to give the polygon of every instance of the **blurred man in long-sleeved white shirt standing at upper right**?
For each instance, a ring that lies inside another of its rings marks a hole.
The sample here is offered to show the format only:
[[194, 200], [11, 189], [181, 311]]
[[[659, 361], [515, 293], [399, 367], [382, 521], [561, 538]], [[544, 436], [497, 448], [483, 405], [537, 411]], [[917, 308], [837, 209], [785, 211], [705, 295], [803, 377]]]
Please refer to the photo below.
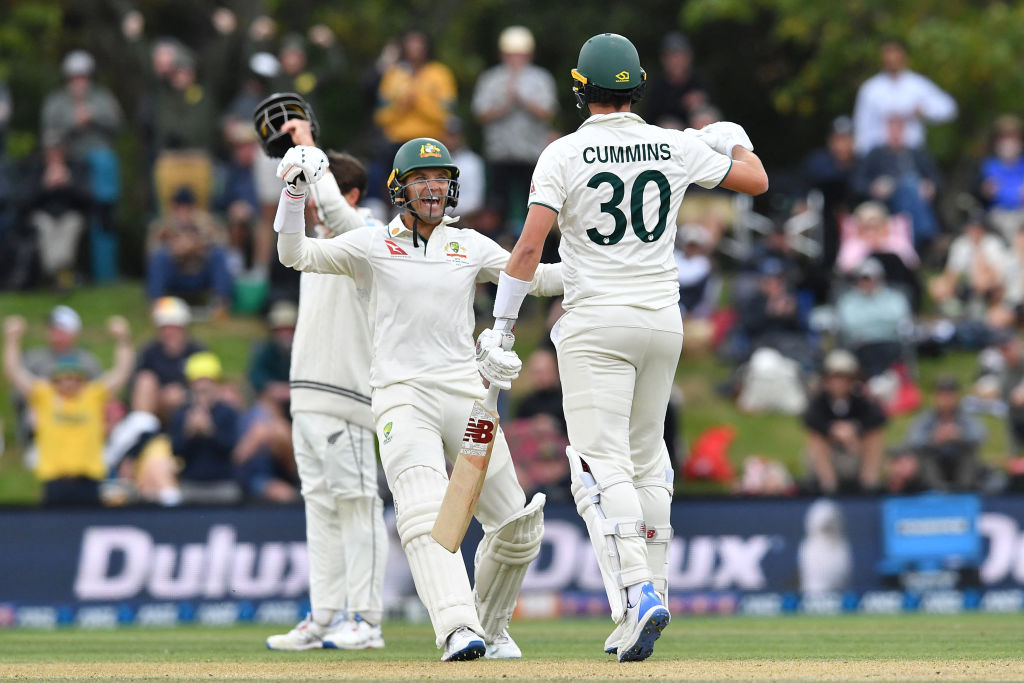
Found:
[[886, 124], [892, 117], [905, 122], [904, 142], [918, 150], [925, 144], [925, 122], [946, 123], [956, 117], [956, 102], [939, 86], [906, 68], [906, 48], [887, 40], [881, 50], [882, 71], [857, 90], [853, 109], [854, 148], [858, 155], [885, 144]]

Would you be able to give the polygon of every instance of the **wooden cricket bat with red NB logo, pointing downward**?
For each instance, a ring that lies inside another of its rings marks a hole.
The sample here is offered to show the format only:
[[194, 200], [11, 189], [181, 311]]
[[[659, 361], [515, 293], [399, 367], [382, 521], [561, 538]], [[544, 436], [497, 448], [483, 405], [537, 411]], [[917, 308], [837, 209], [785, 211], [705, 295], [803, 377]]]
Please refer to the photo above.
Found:
[[[511, 324], [504, 332], [512, 332]], [[509, 334], [508, 348], [511, 348], [511, 339]], [[457, 552], [462, 545], [466, 529], [469, 528], [469, 520], [476, 512], [476, 504], [480, 500], [480, 489], [483, 488], [483, 478], [487, 474], [490, 452], [498, 435], [499, 391], [501, 389], [492, 385], [482, 403], [478, 400], [473, 402], [466, 432], [462, 437], [462, 446], [449, 478], [449, 487], [444, 490], [444, 500], [441, 501], [434, 527], [430, 531], [431, 538], [450, 553]]]

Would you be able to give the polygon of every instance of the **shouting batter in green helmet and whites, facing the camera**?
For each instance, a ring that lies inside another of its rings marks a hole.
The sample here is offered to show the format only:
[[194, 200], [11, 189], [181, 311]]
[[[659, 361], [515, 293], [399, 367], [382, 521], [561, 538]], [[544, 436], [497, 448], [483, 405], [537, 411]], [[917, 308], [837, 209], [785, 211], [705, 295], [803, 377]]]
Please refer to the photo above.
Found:
[[[526, 505], [504, 435], [496, 438], [476, 511], [484, 537], [475, 587], [461, 554], [430, 537], [447, 485], [445, 459], [457, 456], [473, 403], [485, 393], [480, 375], [507, 388], [521, 368], [514, 352], [500, 348], [480, 364], [474, 358], [476, 285], [498, 281], [508, 252], [452, 225], [444, 209], [458, 202], [459, 169], [444, 145], [430, 138], [407, 142], [395, 155], [388, 186], [402, 213], [386, 227], [306, 239], [303, 186], [306, 178], [317, 180], [325, 163], [323, 153], [309, 146], [282, 160], [279, 175], [289, 184], [274, 221], [281, 261], [349, 275], [369, 296], [370, 385], [381, 461], [442, 659], [521, 656], [507, 627], [526, 567], [540, 552], [544, 496]], [[540, 266], [527, 290], [561, 293], [561, 267]]]

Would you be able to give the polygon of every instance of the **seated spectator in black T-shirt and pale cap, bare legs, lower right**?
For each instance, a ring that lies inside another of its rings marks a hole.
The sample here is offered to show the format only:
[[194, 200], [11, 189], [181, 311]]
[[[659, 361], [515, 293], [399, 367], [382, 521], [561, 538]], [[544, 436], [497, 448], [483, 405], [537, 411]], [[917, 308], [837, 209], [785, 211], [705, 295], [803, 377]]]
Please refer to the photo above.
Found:
[[808, 486], [826, 495], [873, 492], [885, 452], [885, 412], [863, 393], [852, 353], [829, 351], [822, 370], [821, 389], [804, 413]]

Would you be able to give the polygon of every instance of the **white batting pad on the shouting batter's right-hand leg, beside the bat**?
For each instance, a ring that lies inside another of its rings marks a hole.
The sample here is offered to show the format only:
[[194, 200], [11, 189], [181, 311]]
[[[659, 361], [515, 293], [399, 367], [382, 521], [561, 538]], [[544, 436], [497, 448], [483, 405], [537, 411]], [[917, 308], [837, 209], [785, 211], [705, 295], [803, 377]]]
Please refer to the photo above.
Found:
[[485, 533], [476, 548], [476, 612], [487, 642], [509, 625], [526, 568], [541, 552], [544, 540], [544, 494]]

